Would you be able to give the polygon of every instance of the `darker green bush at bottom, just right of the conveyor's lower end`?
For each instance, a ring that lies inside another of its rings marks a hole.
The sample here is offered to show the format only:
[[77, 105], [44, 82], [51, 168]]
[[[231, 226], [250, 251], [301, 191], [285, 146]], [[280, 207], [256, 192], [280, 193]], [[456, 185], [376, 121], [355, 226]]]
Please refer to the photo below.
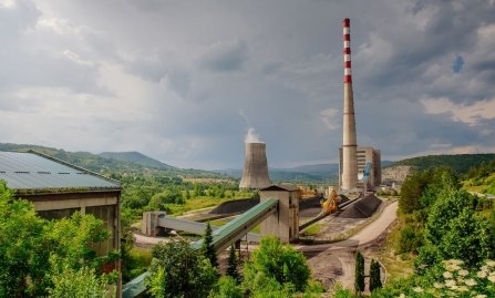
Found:
[[217, 282], [212, 264], [184, 239], [157, 244], [147, 284], [154, 297], [207, 297]]

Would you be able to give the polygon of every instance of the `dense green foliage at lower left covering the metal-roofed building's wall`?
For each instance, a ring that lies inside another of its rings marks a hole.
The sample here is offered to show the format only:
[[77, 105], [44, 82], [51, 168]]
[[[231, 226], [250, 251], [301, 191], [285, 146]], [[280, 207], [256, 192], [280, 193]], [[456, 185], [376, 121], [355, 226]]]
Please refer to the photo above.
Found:
[[109, 236], [92, 215], [43, 219], [0, 182], [0, 297], [105, 297], [117, 274], [103, 265], [118, 253], [97, 256], [91, 245]]

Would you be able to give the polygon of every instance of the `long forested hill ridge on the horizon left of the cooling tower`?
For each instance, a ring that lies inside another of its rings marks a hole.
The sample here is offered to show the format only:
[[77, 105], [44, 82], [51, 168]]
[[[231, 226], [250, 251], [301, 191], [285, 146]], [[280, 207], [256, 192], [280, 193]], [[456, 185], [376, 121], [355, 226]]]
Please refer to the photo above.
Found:
[[[104, 175], [155, 173], [169, 176], [218, 177], [220, 174], [202, 169], [182, 169], [163, 164], [138, 152], [122, 155], [112, 153], [112, 158], [90, 152], [68, 152], [64, 150], [28, 144], [0, 143], [0, 151], [28, 152], [30, 150], [53, 156], [61, 161], [87, 168]], [[121, 158], [114, 156], [118, 155]], [[125, 160], [124, 157], [127, 157]], [[134, 160], [133, 160], [134, 158]], [[154, 161], [154, 162], [152, 162]]]

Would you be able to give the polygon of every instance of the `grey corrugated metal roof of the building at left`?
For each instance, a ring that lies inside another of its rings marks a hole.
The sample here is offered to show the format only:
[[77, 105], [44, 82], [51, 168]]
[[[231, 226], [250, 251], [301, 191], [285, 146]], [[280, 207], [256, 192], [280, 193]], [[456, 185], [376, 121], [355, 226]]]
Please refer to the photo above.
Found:
[[0, 152], [0, 179], [12, 189], [121, 187], [117, 181], [38, 153]]

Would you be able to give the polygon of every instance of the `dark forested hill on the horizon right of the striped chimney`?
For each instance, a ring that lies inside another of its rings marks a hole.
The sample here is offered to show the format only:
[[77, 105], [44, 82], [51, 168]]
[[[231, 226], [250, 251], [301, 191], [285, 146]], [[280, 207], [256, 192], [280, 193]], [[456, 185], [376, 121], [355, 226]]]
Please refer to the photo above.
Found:
[[409, 165], [417, 171], [437, 166], [450, 166], [458, 174], [466, 174], [470, 168], [477, 167], [484, 162], [495, 160], [494, 153], [487, 154], [456, 154], [456, 155], [427, 155], [399, 161], [391, 166]]

